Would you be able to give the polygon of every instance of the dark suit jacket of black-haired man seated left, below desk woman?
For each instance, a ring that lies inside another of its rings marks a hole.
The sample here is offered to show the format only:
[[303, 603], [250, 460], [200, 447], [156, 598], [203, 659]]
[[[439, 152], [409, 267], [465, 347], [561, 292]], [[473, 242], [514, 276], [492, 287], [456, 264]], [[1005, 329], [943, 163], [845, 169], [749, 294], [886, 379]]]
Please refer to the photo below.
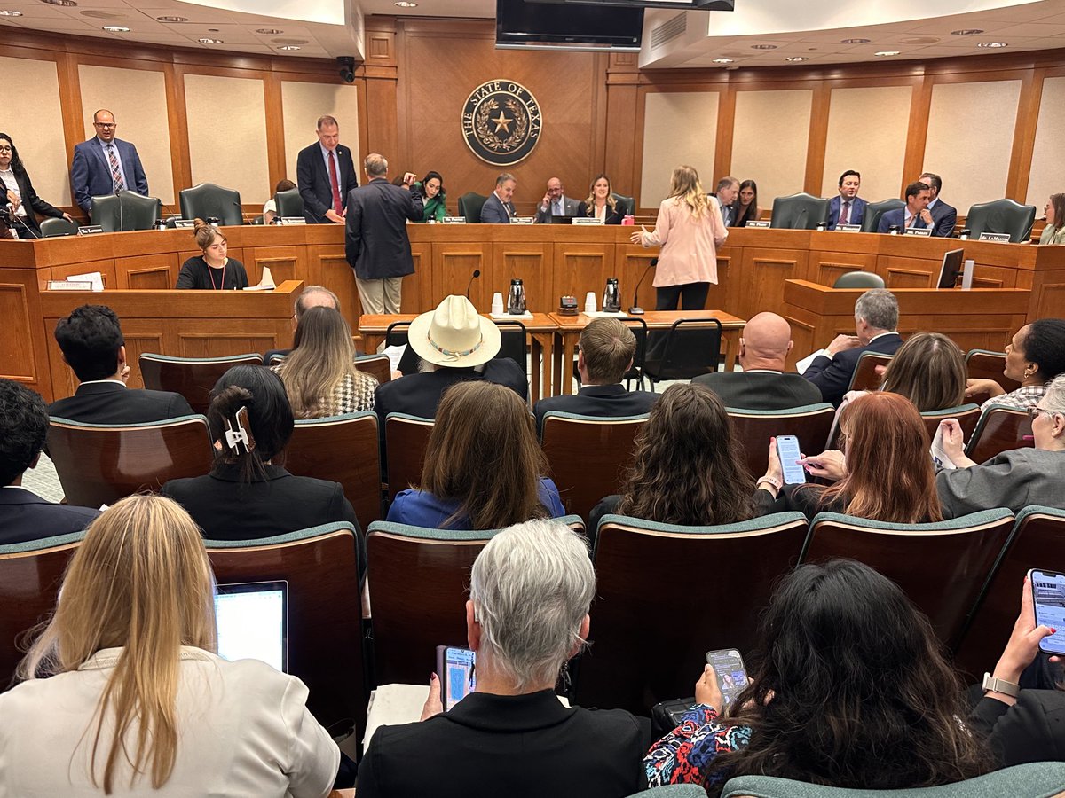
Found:
[[181, 394], [128, 388], [117, 382], [79, 385], [73, 396], [48, 405], [48, 415], [81, 423], [150, 423], [193, 415]]

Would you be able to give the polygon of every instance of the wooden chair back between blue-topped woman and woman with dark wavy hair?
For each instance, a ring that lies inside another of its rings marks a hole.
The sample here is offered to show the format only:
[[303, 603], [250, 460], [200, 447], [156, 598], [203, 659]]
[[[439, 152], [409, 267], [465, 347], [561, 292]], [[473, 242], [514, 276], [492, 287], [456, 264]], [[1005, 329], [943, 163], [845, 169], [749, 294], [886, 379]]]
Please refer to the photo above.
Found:
[[621, 489], [636, 435], [646, 422], [646, 416], [544, 415], [541, 445], [567, 513], [588, 518], [604, 496]]

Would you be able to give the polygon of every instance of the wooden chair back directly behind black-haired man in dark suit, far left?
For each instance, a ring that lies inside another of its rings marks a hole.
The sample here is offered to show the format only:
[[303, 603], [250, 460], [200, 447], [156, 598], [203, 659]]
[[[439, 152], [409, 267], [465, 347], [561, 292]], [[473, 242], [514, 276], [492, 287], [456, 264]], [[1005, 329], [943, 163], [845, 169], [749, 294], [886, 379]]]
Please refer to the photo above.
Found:
[[144, 425], [76, 423], [52, 418], [48, 454], [70, 504], [98, 508], [167, 480], [211, 470], [211, 436], [203, 416]]

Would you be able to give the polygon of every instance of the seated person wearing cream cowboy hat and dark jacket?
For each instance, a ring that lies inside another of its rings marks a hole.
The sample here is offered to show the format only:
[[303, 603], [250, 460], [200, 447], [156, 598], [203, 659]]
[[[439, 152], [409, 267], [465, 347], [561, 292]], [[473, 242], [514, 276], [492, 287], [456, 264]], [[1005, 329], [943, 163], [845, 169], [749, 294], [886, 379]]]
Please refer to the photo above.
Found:
[[374, 397], [381, 430], [389, 413], [433, 418], [444, 390], [464, 380], [484, 380], [528, 398], [525, 371], [499, 353], [499, 328], [478, 316], [465, 297], [449, 296], [437, 310], [410, 323], [410, 347], [422, 359], [421, 370], [378, 386]]

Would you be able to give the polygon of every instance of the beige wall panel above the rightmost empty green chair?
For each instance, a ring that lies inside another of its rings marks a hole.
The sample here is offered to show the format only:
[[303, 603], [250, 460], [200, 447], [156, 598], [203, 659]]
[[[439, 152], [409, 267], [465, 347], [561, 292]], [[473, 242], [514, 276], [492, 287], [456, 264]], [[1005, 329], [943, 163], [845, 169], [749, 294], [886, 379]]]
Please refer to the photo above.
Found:
[[1004, 196], [1019, 98], [1020, 81], [932, 88], [924, 168], [943, 178], [944, 199], [960, 216]]

